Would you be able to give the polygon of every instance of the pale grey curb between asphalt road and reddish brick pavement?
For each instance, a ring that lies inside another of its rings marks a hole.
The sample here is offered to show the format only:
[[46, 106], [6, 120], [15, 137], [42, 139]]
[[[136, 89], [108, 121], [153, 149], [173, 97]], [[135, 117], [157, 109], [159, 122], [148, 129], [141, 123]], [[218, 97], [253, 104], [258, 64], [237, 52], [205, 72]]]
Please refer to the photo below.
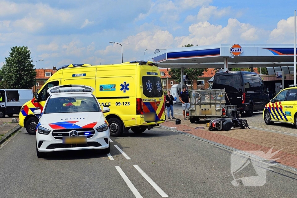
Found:
[[[184, 135], [193, 137], [193, 138], [195, 138], [195, 139], [197, 139], [197, 140], [202, 140], [202, 141], [204, 141], [204, 142], [208, 142], [208, 143], [210, 143], [210, 144], [213, 144], [213, 145], [216, 145], [216, 146], [219, 146], [219, 147], [228, 149], [228, 150], [230, 150], [230, 151], [236, 151], [236, 152], [238, 152], [238, 153], [241, 153], [241, 154], [250, 156], [250, 157], [255, 158], [255, 159], [257, 159], [257, 160], [260, 160], [260, 161], [266, 161], [266, 159], [264, 159], [264, 158], [262, 158], [262, 157], [259, 157], [259, 156], [256, 156], [256, 155], [254, 155], [254, 154], [251, 154], [251, 153], [247, 153], [247, 152], [238, 150], [238, 149], [236, 149], [236, 148], [232, 148], [232, 147], [230, 147], [230, 146], [226, 146], [226, 145], [223, 145], [223, 144], [214, 142], [214, 141], [210, 141], [210, 140], [207, 140], [207, 139], [204, 139], [204, 138], [201, 138], [201, 137], [198, 137], [198, 136], [195, 136], [195, 135], [186, 133], [186, 132], [178, 131], [178, 130], [176, 130], [176, 129], [171, 129], [171, 128], [168, 127], [168, 126], [163, 126], [163, 125], [160, 125], [160, 126], [161, 126], [162, 128], [164, 128], [164, 129], [168, 129], [168, 130], [170, 130], [170, 131], [178, 132], [178, 133], [181, 133], [181, 134], [184, 134]], [[297, 172], [297, 168], [290, 167], [290, 166], [283, 165], [283, 164], [279, 164], [278, 162], [277, 162], [277, 164], [276, 164], [275, 166], [280, 167], [280, 168], [283, 168], [283, 169], [288, 169], [288, 170]]]

